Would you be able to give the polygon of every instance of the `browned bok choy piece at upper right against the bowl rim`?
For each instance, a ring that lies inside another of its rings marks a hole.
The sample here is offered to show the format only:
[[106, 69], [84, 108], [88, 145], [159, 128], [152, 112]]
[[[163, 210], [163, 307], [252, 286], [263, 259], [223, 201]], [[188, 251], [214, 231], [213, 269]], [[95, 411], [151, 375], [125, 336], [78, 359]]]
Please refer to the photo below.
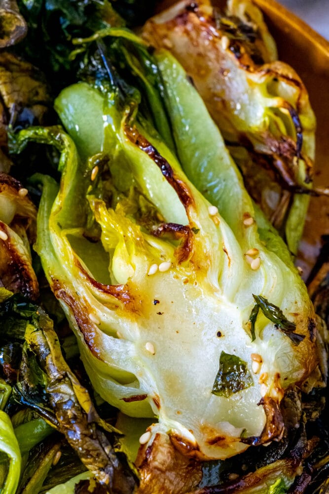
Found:
[[[208, 1], [183, 0], [149, 20], [144, 37], [183, 64], [228, 142], [267, 157], [267, 167], [283, 186], [274, 198], [276, 217], [270, 217], [296, 254], [312, 182], [315, 118], [303, 83], [291, 67], [277, 61], [261, 12], [250, 1], [230, 0], [222, 14]], [[247, 186], [250, 181], [259, 204], [264, 202], [266, 170], [258, 169], [264, 162], [243, 161]], [[266, 189], [265, 203], [273, 202], [277, 186], [272, 192], [268, 180]], [[285, 191], [290, 192], [288, 201]]]

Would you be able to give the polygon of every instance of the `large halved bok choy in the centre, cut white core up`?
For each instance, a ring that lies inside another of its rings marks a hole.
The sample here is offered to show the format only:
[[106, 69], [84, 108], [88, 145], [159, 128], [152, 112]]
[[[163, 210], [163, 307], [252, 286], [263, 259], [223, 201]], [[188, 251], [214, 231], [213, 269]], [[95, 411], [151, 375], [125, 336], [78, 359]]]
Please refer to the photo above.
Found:
[[[197, 140], [214, 124], [194, 96], [184, 111], [203, 114]], [[149, 445], [164, 434], [183, 454], [227, 458], [282, 437], [280, 402], [318, 364], [314, 309], [284, 244], [261, 242], [234, 163], [221, 172], [223, 142], [201, 143], [195, 160], [234, 191], [209, 202], [138, 105], [137, 92], [82, 82], [55, 103], [69, 135], [19, 133], [18, 148], [35, 140], [61, 153], [59, 188], [35, 177], [43, 186], [36, 249], [101, 397], [128, 415], [157, 417]], [[268, 303], [254, 335], [253, 295]], [[295, 338], [268, 317], [272, 309]]]

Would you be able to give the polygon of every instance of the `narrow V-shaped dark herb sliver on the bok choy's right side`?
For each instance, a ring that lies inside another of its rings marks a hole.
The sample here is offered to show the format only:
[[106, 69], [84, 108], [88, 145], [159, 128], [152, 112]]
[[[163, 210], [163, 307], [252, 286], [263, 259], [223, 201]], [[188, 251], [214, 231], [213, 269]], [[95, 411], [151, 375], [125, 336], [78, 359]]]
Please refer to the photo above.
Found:
[[[262, 297], [261, 295], [253, 295], [253, 297], [256, 302], [256, 306], [259, 307], [259, 309], [262, 311], [264, 316], [267, 317], [267, 319], [269, 319], [277, 329], [281, 329], [281, 331], [283, 331], [292, 340], [292, 343], [294, 345], [299, 345], [299, 343], [303, 341], [305, 335], [294, 332], [296, 329], [296, 325], [291, 321], [288, 321], [288, 319], [286, 318], [282, 310], [279, 309], [279, 307], [277, 307], [274, 304], [271, 304], [265, 297]], [[252, 317], [253, 317], [252, 325], [254, 324], [254, 331], [255, 331], [255, 322], [256, 322], [255, 314], [256, 314], [256, 310], [254, 307], [249, 319], [250, 321], [252, 321]]]

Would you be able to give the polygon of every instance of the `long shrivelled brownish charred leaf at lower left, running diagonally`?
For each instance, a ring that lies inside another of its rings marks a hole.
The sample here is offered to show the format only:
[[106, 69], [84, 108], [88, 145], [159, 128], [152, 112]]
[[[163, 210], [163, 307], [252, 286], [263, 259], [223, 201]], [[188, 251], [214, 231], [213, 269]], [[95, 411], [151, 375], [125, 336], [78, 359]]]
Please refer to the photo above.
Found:
[[64, 436], [82, 463], [113, 493], [132, 493], [134, 476], [117, 457], [106, 435], [116, 429], [96, 412], [88, 391], [66, 364], [47, 314], [22, 295], [0, 304], [5, 328], [13, 317], [25, 322], [25, 343], [17, 391], [22, 403], [31, 406]]

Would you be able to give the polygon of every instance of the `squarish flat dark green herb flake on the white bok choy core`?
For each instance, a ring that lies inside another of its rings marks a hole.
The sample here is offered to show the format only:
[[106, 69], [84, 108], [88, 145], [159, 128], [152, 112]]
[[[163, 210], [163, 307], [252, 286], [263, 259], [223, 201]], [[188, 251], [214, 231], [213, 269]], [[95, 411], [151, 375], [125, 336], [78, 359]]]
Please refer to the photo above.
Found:
[[215, 378], [212, 393], [228, 398], [233, 393], [253, 385], [253, 378], [247, 364], [236, 355], [221, 352], [219, 371]]

